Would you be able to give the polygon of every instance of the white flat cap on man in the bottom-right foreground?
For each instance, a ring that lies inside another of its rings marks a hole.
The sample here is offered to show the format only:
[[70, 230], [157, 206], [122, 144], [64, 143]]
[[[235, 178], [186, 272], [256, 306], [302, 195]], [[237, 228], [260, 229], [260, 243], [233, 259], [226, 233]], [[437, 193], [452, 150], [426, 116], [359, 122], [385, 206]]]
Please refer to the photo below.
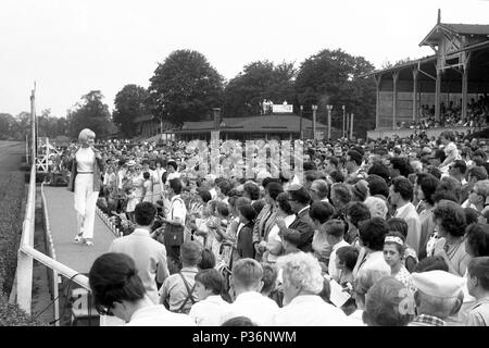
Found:
[[465, 284], [463, 277], [444, 271], [413, 272], [414, 287], [429, 296], [452, 298], [457, 297]]

